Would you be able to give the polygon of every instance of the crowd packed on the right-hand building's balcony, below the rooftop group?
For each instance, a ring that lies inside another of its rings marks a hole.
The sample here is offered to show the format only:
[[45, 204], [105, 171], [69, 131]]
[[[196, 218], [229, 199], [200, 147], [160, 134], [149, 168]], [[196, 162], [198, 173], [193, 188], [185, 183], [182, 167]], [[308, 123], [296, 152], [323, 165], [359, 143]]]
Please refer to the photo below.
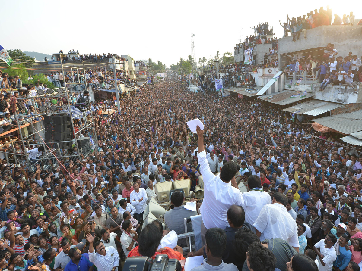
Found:
[[337, 56], [338, 51], [334, 44], [328, 43], [323, 47], [324, 53], [321, 57], [303, 56], [299, 58], [294, 55], [286, 60], [284, 72], [289, 78], [292, 74], [303, 77], [306, 72], [308, 80], [317, 80], [320, 83], [320, 91], [328, 85], [348, 85], [357, 93], [357, 85], [362, 81], [361, 58], [349, 52], [347, 56]]

